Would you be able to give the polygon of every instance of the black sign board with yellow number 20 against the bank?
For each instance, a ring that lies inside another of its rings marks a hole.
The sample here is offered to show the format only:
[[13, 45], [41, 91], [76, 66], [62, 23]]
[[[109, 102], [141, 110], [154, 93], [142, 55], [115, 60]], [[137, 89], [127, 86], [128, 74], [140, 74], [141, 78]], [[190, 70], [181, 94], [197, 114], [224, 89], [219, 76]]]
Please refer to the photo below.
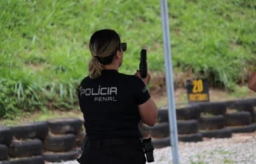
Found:
[[207, 79], [187, 80], [187, 94], [189, 102], [209, 101], [209, 87]]

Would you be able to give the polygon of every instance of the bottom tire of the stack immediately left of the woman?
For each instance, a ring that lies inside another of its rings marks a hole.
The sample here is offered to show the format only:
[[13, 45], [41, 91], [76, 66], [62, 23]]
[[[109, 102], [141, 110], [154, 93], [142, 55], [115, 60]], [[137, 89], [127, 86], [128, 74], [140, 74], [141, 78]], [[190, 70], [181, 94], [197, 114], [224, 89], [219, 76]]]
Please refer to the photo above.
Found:
[[57, 154], [43, 154], [44, 161], [50, 163], [60, 163], [62, 161], [74, 161], [79, 158], [78, 151], [69, 151], [65, 153], [57, 153]]

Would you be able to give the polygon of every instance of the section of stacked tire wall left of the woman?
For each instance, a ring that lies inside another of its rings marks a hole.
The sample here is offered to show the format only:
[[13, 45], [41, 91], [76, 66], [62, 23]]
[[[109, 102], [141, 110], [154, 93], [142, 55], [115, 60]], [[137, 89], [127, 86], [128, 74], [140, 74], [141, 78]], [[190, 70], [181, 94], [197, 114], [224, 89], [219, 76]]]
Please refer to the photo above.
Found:
[[86, 135], [77, 118], [0, 126], [1, 164], [44, 164], [76, 160]]

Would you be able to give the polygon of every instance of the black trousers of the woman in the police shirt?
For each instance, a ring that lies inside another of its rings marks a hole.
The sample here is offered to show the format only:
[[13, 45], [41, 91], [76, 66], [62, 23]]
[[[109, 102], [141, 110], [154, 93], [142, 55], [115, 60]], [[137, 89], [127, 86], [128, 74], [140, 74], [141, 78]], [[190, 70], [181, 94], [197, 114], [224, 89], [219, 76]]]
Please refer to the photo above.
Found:
[[145, 164], [146, 158], [140, 144], [90, 144], [78, 159], [81, 164]]

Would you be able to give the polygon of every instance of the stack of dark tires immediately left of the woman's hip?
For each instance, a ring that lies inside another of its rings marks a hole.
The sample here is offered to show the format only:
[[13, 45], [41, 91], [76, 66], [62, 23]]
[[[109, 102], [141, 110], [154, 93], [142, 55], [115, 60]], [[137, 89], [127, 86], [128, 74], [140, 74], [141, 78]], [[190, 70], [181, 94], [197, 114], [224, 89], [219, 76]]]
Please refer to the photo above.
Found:
[[43, 141], [43, 158], [57, 163], [79, 158], [76, 136], [81, 136], [81, 119], [58, 119], [47, 121], [49, 133]]

